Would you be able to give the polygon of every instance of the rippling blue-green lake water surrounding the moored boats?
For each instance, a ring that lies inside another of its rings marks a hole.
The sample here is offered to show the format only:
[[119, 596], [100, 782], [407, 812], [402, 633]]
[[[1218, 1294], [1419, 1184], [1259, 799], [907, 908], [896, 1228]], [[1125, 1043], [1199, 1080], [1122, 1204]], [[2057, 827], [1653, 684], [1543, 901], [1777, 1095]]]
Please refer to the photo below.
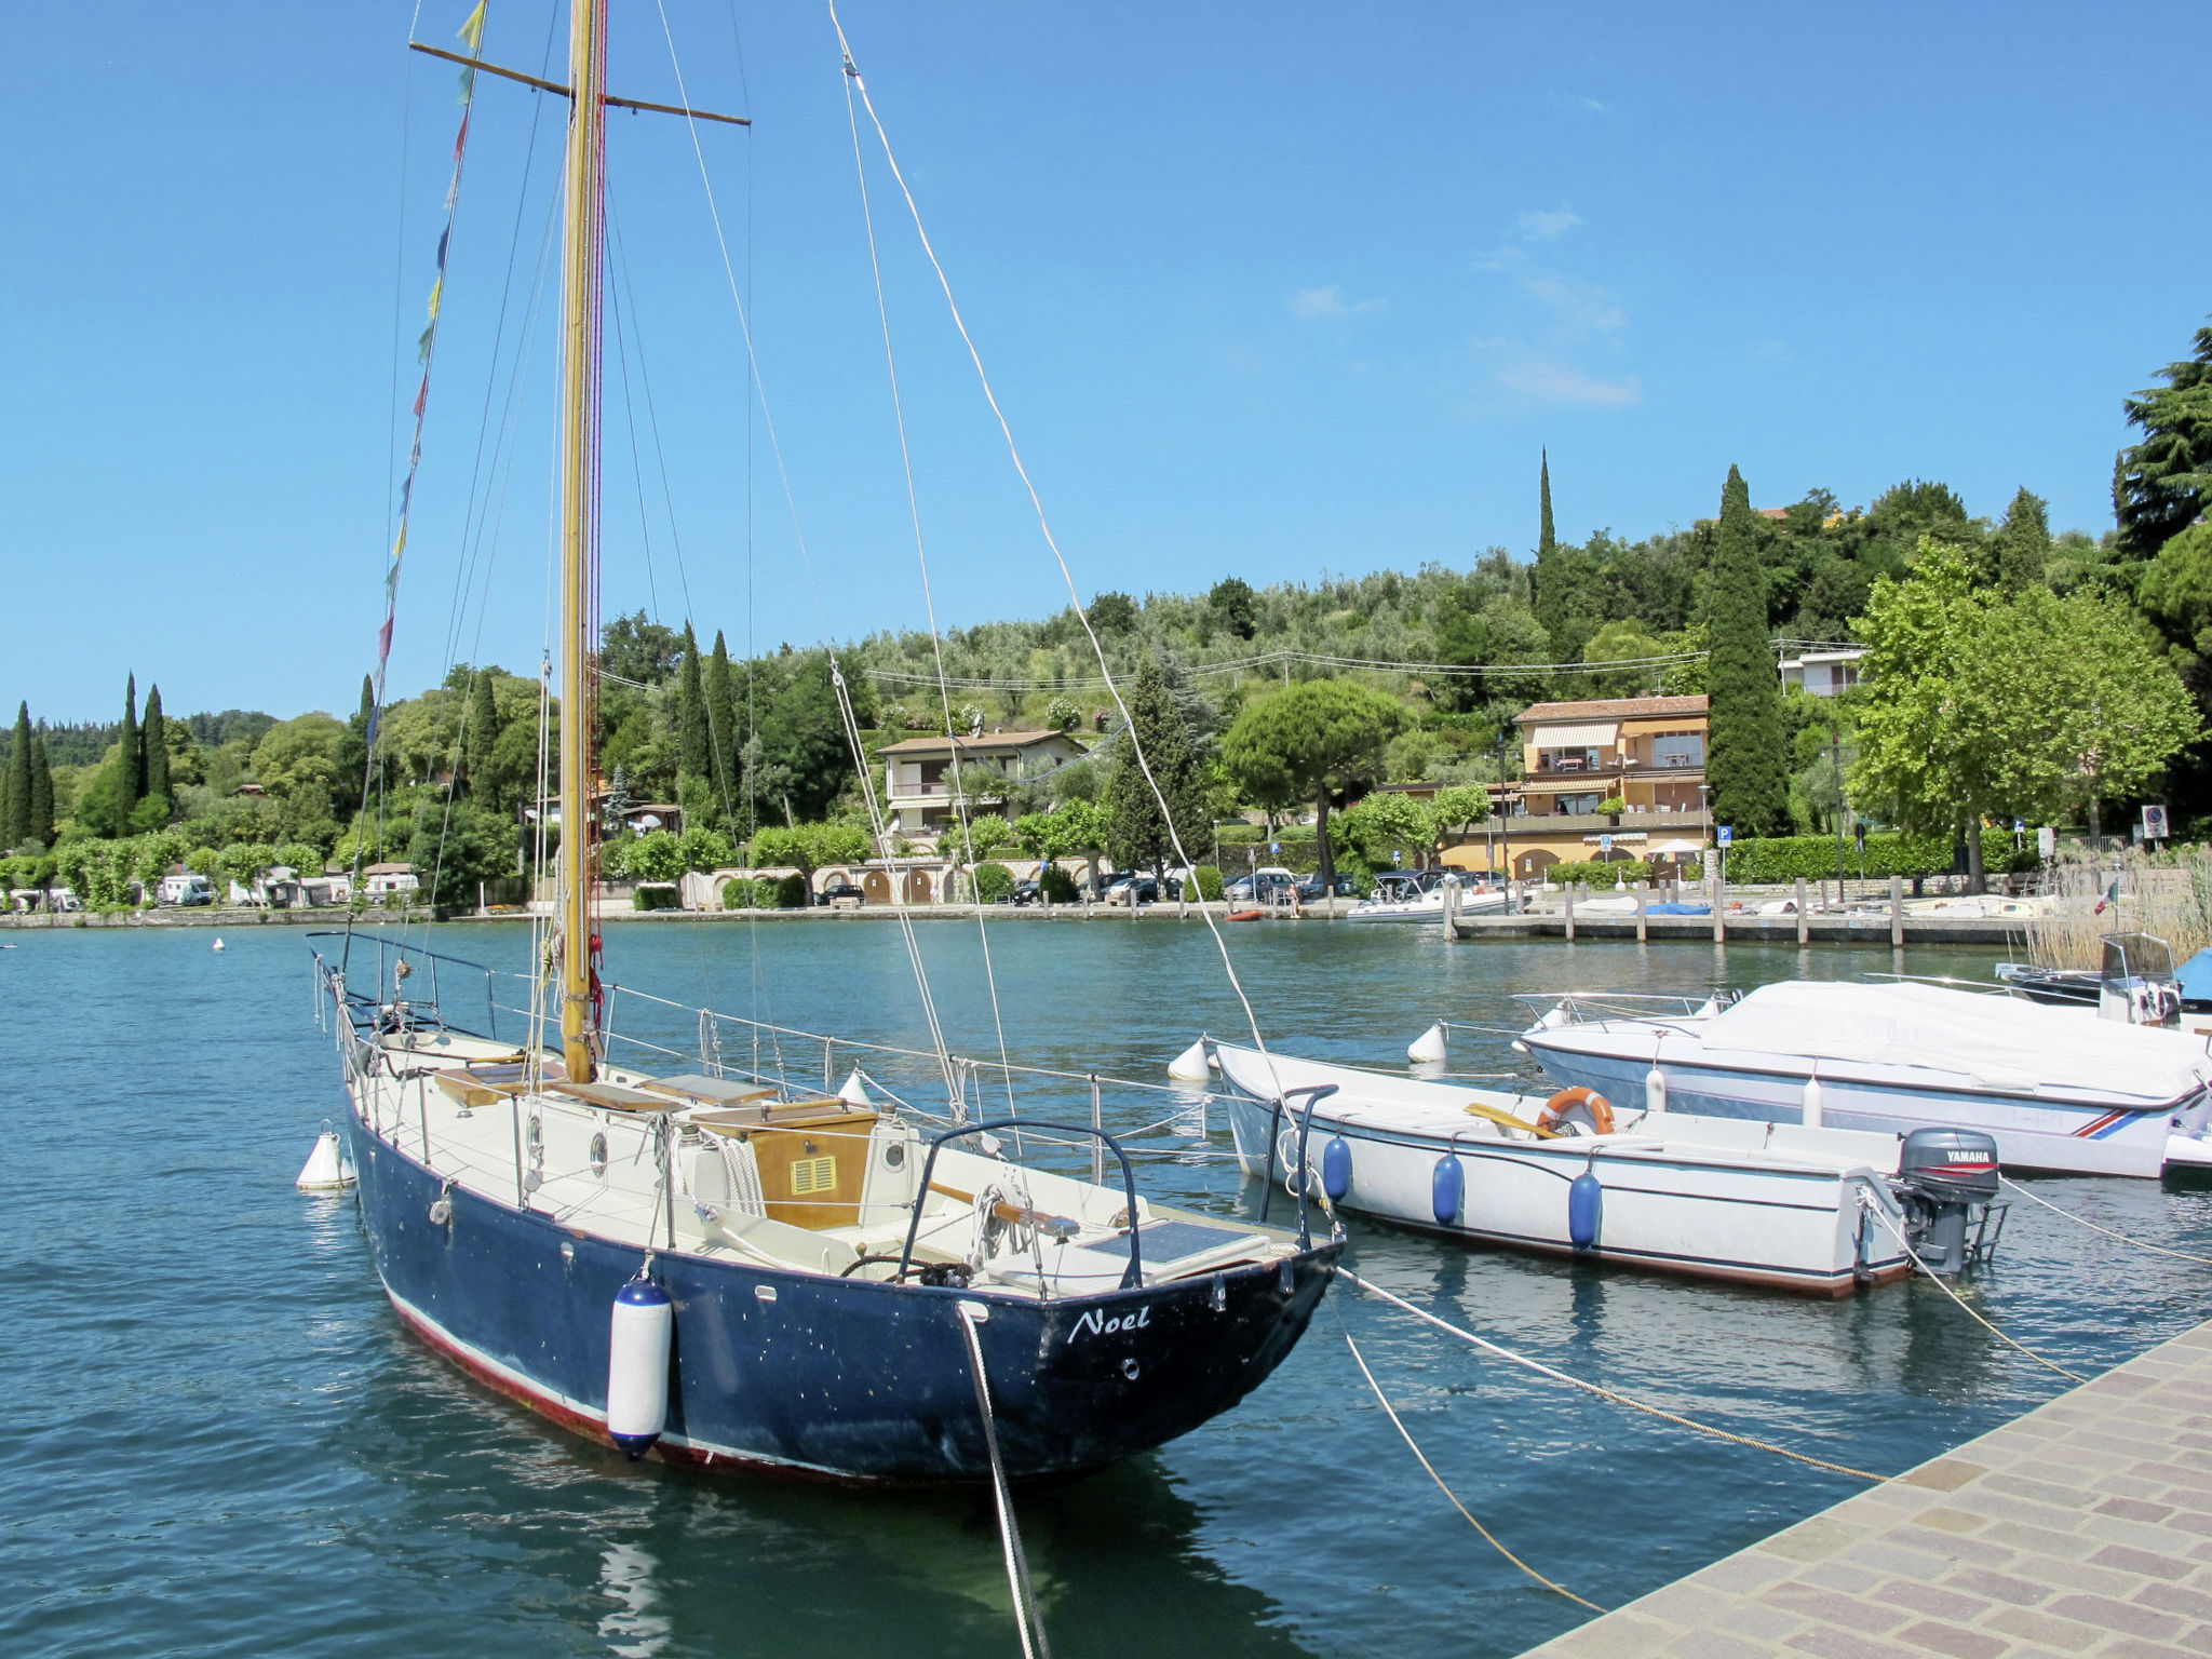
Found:
[[[953, 1044], [991, 1053], [973, 922], [916, 929]], [[349, 1199], [292, 1190], [338, 1075], [299, 929], [7, 933], [0, 951], [0, 1652], [936, 1655], [1015, 1652], [989, 1509], [628, 1467], [487, 1396], [385, 1303]], [[522, 967], [515, 925], [436, 947]], [[1887, 951], [1615, 942], [1444, 947], [1431, 929], [1232, 929], [1270, 1040], [1402, 1064], [1438, 1015], [1546, 989], [1697, 991], [1889, 971]], [[1161, 1079], [1243, 1029], [1199, 922], [991, 933], [1018, 1060]], [[1991, 953], [1913, 951], [1986, 978]], [[898, 929], [608, 929], [608, 975], [812, 1031], [920, 1046]], [[451, 995], [451, 993], [449, 993]], [[467, 1002], [451, 998], [458, 1011]], [[619, 1029], [695, 1048], [630, 998]], [[794, 1044], [818, 1075], [818, 1048]], [[1462, 1071], [1504, 1068], [1462, 1044]], [[845, 1060], [838, 1060], [843, 1071]], [[1088, 1113], [1088, 1095], [1024, 1110]], [[938, 1102], [942, 1104], [942, 1102]], [[1172, 1097], [1106, 1091], [1110, 1128]], [[1188, 1119], [1148, 1144], [1159, 1197], [1256, 1203]], [[2124, 1232], [2212, 1248], [2212, 1192], [2039, 1181]], [[1352, 1221], [1347, 1261], [1579, 1376], [1863, 1469], [1896, 1471], [2062, 1385], [1927, 1283], [1847, 1303], [1484, 1254]], [[2208, 1272], [2015, 1206], [1971, 1292], [2095, 1371], [2205, 1316]], [[1340, 1321], [1340, 1323], [1338, 1323]], [[1619, 1606], [1858, 1482], [1692, 1436], [1447, 1343], [1349, 1287], [1243, 1407], [1020, 1504], [1046, 1628], [1082, 1655], [1515, 1655], [1588, 1617], [1500, 1559], [1378, 1411], [1343, 1329], [1506, 1546]]]

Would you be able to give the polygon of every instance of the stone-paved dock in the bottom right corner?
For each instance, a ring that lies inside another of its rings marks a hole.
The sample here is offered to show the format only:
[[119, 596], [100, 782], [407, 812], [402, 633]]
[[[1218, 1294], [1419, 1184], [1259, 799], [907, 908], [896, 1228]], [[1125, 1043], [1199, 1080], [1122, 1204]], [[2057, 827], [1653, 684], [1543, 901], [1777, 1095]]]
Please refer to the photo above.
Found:
[[1537, 1655], [2212, 1655], [2212, 1325]]

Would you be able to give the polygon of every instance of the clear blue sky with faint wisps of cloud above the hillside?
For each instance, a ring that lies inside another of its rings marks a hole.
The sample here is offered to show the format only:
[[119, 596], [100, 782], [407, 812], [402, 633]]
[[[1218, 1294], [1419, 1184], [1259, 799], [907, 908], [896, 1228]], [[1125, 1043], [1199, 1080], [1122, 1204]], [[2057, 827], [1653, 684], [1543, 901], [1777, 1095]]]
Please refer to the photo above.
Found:
[[[692, 100], [759, 117], [703, 139], [814, 575], [757, 422], [748, 489], [690, 137], [615, 115], [639, 338], [635, 416], [608, 365], [606, 611], [681, 622], [688, 591], [763, 648], [916, 626], [827, 15], [666, 4]], [[465, 11], [425, 0], [420, 38], [453, 44]], [[1708, 515], [1732, 462], [1759, 504], [1922, 476], [1975, 513], [2028, 484], [2055, 526], [2101, 531], [2121, 396], [2212, 312], [2201, 100], [2177, 69], [2208, 18], [845, 4], [1086, 597], [1524, 553], [1540, 447], [1575, 540]], [[535, 71], [549, 22], [493, 0], [484, 51]], [[453, 71], [407, 29], [405, 4], [11, 18], [7, 703], [111, 719], [135, 668], [175, 712], [352, 706], [456, 115]], [[644, 0], [615, 4], [613, 82], [675, 97]], [[551, 303], [524, 316], [557, 108], [491, 80], [476, 108], [396, 692], [440, 675], [449, 635], [520, 670], [544, 637]], [[902, 208], [878, 192], [876, 217], [938, 613], [1044, 615], [1057, 573]], [[502, 299], [531, 414], [489, 422], [480, 467]], [[453, 624], [471, 473], [495, 599]]]

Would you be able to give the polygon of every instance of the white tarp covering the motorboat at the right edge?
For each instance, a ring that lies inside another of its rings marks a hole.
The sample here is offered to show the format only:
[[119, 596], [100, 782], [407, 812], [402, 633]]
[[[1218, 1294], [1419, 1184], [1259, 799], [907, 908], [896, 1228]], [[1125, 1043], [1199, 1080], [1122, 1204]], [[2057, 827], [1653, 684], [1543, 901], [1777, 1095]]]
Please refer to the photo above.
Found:
[[2212, 1082], [2205, 1040], [1940, 984], [1783, 980], [1699, 1031], [1708, 1051], [1924, 1066], [1989, 1088], [2077, 1088], [2163, 1104]]

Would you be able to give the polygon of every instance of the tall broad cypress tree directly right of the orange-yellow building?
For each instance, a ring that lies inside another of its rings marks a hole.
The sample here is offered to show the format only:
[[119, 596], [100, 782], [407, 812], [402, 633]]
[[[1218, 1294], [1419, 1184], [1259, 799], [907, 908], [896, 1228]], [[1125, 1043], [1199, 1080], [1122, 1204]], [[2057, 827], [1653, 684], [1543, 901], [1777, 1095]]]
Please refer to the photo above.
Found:
[[1712, 821], [1732, 825], [1739, 836], [1776, 834], [1790, 816], [1783, 686], [1767, 639], [1767, 584], [1759, 566], [1752, 491], [1734, 467], [1721, 489], [1705, 626], [1712, 650], [1705, 666]]

